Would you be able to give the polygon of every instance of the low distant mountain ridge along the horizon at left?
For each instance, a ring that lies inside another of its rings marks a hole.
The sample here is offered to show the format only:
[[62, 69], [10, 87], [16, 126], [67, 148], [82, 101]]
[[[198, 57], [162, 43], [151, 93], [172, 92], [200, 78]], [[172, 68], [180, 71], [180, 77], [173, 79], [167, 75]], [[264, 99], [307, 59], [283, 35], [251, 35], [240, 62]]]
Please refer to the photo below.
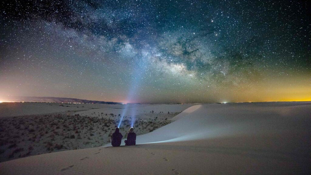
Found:
[[82, 100], [77, 98], [63, 97], [27, 97], [27, 96], [9, 96], [7, 101], [11, 102], [52, 102], [52, 103], [98, 103], [98, 104], [124, 104], [120, 102], [104, 102], [94, 100]]

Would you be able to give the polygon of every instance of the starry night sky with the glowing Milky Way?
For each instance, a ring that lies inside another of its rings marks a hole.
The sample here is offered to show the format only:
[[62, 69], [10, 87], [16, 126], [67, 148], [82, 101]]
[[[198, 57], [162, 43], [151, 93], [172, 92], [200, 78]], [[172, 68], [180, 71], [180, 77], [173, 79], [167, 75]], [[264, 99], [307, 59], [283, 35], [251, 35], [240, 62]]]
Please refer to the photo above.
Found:
[[307, 1], [0, 2], [7, 96], [311, 101]]

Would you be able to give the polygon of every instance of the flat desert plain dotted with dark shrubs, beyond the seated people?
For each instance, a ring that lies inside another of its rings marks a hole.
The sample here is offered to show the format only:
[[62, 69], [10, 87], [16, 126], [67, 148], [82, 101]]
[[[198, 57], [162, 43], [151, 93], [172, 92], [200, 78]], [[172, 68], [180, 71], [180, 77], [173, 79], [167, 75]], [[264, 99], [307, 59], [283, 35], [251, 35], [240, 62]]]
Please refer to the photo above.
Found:
[[124, 137], [132, 121], [137, 135], [146, 134], [193, 105], [0, 103], [5, 109], [0, 111], [0, 162], [107, 144], [120, 114], [125, 114], [119, 128]]

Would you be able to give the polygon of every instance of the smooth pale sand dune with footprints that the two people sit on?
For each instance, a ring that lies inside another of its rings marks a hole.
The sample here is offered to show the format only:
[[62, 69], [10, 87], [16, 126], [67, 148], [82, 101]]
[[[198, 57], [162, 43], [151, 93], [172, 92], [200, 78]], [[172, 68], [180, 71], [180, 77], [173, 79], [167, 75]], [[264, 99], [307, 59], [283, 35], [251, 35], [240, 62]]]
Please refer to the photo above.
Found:
[[0, 163], [0, 170], [2, 174], [310, 174], [310, 114], [310, 102], [192, 106], [169, 125], [138, 136], [136, 146], [31, 156]]

